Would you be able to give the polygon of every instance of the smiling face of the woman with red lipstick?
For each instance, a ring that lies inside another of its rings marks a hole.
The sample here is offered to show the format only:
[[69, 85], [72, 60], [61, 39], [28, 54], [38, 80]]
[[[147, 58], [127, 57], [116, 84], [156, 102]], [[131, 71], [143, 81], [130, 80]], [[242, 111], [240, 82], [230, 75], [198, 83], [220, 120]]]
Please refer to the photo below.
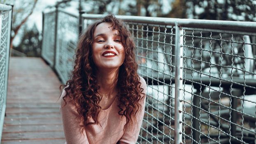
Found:
[[93, 33], [93, 62], [98, 69], [119, 68], [125, 57], [121, 36], [111, 23], [100, 23]]

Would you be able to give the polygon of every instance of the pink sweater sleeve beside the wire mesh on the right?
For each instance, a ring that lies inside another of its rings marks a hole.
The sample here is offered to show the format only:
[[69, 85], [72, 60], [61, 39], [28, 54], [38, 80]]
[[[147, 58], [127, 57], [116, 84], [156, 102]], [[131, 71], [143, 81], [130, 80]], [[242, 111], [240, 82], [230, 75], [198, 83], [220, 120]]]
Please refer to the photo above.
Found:
[[[146, 81], [142, 77], [140, 77], [140, 82], [142, 84], [141, 86], [143, 88], [143, 93], [147, 94]], [[146, 102], [146, 95], [144, 99], [141, 100], [142, 107], [135, 116], [138, 125], [128, 123], [128, 125], [124, 130], [123, 136], [119, 140], [118, 144], [135, 144], [137, 142], [137, 139], [140, 133], [140, 128], [142, 125], [143, 116], [144, 116], [145, 102]]]

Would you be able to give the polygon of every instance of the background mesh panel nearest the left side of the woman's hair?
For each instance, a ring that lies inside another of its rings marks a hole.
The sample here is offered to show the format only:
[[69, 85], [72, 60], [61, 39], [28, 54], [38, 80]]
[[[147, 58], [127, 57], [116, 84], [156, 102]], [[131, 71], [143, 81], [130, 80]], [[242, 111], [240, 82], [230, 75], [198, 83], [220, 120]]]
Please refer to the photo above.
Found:
[[58, 12], [55, 69], [63, 83], [69, 79], [73, 69], [73, 56], [79, 36], [78, 21], [77, 16], [63, 11]]

